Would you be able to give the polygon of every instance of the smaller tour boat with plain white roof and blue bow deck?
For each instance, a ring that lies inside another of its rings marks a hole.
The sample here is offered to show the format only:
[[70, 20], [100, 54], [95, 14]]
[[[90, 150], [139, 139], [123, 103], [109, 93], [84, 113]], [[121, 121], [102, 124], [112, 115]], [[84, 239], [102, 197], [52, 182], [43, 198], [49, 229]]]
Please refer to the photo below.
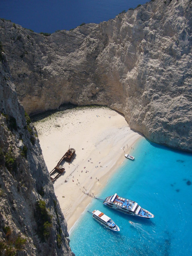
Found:
[[115, 224], [115, 222], [107, 215], [105, 215], [103, 212], [100, 212], [99, 210], [94, 210], [92, 214], [93, 219], [101, 223], [101, 225], [103, 225], [107, 229], [113, 231], [120, 231], [119, 227]]

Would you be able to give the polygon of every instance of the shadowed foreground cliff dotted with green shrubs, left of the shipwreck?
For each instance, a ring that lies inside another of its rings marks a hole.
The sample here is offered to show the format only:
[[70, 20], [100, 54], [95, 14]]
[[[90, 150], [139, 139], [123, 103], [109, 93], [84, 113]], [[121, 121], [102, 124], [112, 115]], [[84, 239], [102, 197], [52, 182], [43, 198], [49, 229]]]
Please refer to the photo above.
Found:
[[36, 131], [0, 52], [0, 255], [73, 255]]

